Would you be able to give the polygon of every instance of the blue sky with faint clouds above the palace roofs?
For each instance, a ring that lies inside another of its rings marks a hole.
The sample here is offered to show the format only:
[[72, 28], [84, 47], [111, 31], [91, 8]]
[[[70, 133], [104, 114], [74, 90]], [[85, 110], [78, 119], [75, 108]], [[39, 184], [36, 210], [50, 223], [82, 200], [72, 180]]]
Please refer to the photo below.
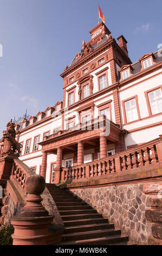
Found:
[[128, 41], [132, 62], [158, 50], [160, 0], [0, 0], [0, 132], [25, 109], [35, 115], [62, 100], [60, 74], [90, 40], [98, 3], [112, 36]]

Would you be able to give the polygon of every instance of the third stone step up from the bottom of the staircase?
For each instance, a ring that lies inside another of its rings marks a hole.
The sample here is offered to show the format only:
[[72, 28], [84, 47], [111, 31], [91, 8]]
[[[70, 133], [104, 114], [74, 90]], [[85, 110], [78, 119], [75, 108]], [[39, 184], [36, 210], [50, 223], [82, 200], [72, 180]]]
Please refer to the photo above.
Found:
[[90, 230], [93, 231], [93, 230], [99, 230], [99, 229], [101, 230], [101, 229], [108, 229], [108, 228], [114, 228], [114, 224], [94, 223], [94, 224], [77, 225], [76, 227], [66, 227], [64, 229], [64, 234], [84, 232], [84, 231], [90, 231]]

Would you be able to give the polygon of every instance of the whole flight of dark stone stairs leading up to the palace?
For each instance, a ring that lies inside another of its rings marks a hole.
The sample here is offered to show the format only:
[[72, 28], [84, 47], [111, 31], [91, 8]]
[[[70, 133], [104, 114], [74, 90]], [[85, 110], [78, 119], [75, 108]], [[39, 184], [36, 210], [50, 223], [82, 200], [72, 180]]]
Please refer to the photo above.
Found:
[[70, 191], [48, 184], [65, 229], [61, 245], [131, 245], [128, 236], [121, 235], [90, 205]]

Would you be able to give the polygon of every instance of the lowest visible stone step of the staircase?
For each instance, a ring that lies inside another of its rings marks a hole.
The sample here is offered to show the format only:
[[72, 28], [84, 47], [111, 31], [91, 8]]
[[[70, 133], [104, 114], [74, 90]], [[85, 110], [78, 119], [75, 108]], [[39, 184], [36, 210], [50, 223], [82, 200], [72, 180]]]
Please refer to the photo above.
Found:
[[114, 245], [115, 243], [128, 241], [128, 236], [111, 235], [105, 237], [95, 237], [93, 239], [66, 241], [61, 242], [61, 245]]

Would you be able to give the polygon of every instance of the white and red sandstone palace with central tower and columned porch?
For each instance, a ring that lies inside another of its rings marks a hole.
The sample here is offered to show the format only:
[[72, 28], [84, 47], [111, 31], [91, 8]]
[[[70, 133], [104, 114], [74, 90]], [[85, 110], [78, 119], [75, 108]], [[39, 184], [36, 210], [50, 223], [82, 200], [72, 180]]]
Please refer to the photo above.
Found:
[[62, 101], [16, 122], [20, 160], [48, 183], [70, 178], [63, 168], [93, 164], [161, 134], [161, 54], [132, 63], [123, 35], [115, 40], [103, 22], [89, 33], [61, 74]]

